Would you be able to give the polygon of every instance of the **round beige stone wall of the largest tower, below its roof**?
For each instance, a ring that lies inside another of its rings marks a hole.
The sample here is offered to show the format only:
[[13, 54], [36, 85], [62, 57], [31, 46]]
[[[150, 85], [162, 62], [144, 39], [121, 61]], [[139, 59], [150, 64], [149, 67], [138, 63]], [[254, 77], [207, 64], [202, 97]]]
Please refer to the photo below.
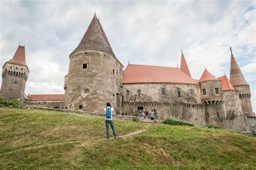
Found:
[[[83, 68], [85, 63], [87, 68]], [[123, 66], [111, 53], [98, 49], [71, 53], [65, 79], [64, 108], [79, 110], [82, 105], [81, 111], [103, 112], [110, 102], [120, 112]]]

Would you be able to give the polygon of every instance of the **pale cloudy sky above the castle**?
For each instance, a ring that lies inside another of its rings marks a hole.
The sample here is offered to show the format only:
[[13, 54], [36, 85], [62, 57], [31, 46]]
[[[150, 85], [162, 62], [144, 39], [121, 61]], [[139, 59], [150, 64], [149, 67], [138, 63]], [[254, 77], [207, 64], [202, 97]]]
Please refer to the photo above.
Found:
[[232, 46], [255, 111], [255, 1], [0, 0], [0, 65], [25, 44], [26, 94], [63, 94], [69, 54], [95, 12], [125, 67], [128, 60], [177, 67], [183, 48], [194, 79], [205, 67], [216, 77], [229, 76]]

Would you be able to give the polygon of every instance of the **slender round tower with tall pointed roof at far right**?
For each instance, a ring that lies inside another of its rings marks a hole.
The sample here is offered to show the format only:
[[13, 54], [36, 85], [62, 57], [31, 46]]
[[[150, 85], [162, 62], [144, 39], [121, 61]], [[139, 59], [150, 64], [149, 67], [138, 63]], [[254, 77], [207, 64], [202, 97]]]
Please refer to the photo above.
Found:
[[245, 77], [242, 74], [237, 61], [234, 58], [231, 47], [230, 47], [230, 50], [231, 50], [230, 82], [239, 93], [239, 98], [242, 100], [242, 110], [244, 111], [244, 114], [253, 115], [250, 85], [245, 80]]

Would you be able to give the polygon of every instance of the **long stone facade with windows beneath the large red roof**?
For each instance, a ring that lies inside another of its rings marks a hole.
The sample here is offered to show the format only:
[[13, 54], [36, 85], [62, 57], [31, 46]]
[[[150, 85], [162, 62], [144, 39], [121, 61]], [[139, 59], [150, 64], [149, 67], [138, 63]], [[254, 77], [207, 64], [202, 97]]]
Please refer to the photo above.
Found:
[[[165, 88], [165, 94], [161, 93]], [[180, 97], [177, 94], [180, 88]], [[193, 95], [190, 94], [193, 89]], [[126, 90], [129, 90], [129, 95]], [[138, 94], [140, 90], [140, 94]], [[153, 110], [156, 118], [176, 119], [205, 125], [204, 104], [201, 103], [199, 84], [139, 83], [124, 84], [122, 108], [125, 115], [138, 115], [138, 109]]]

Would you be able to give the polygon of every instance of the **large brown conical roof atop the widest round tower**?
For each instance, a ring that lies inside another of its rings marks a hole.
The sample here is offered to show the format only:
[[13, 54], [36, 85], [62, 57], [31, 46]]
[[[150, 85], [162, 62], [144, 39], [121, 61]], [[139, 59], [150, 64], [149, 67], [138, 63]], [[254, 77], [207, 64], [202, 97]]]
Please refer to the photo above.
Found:
[[114, 55], [114, 52], [109, 44], [109, 40], [107, 40], [102, 25], [96, 16], [92, 18], [84, 37], [74, 51], [88, 48], [102, 49]]

